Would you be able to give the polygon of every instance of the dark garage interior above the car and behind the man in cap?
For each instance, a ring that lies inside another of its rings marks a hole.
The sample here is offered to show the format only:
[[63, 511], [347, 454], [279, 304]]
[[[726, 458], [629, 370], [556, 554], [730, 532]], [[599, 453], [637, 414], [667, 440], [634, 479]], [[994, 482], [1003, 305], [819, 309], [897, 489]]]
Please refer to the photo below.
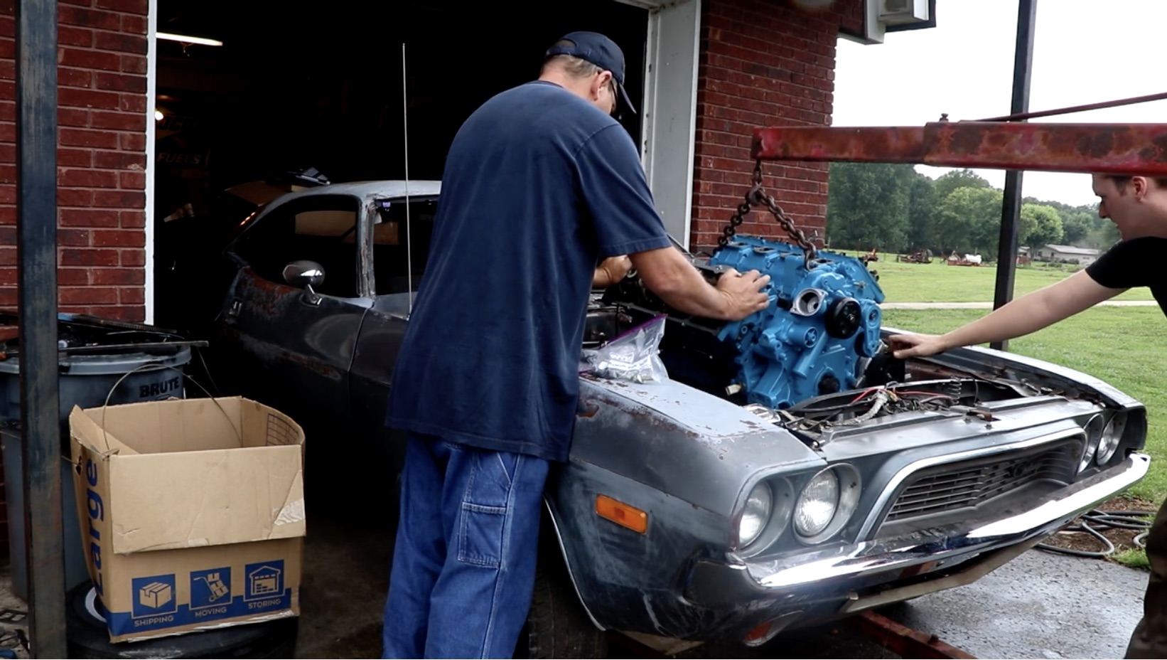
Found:
[[[155, 42], [160, 325], [177, 320], [169, 289], [175, 259], [246, 213], [221, 209], [225, 188], [284, 181], [307, 168], [333, 182], [403, 179], [406, 112], [410, 178], [440, 179], [466, 117], [533, 79], [543, 50], [572, 30], [602, 32], [619, 43], [628, 92], [643, 96], [648, 11], [617, 1], [259, 5], [244, 14], [224, 0], [158, 0], [159, 33], [223, 43]], [[641, 114], [621, 121], [641, 144]]]

